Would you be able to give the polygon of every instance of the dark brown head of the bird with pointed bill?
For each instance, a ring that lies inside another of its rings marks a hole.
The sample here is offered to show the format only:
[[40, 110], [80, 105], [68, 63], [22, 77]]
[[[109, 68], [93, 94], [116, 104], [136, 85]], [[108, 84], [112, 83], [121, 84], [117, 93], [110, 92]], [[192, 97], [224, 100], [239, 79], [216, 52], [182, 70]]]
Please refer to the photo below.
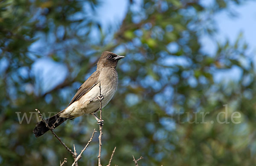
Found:
[[116, 68], [117, 62], [119, 59], [124, 58], [124, 56], [116, 55], [115, 53], [111, 53], [109, 51], [104, 51], [99, 58], [97, 63], [97, 69], [104, 67]]

